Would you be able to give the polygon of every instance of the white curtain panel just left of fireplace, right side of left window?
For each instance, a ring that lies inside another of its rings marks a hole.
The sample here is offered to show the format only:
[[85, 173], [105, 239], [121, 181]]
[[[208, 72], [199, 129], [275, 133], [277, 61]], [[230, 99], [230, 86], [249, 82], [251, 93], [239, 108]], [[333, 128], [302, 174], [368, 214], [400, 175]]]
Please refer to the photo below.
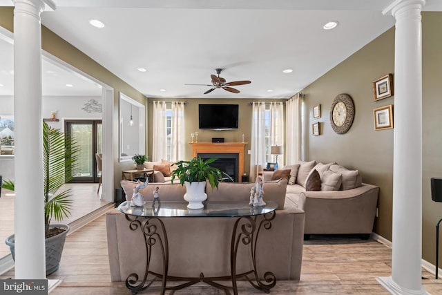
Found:
[[184, 160], [184, 102], [172, 103], [171, 161]]

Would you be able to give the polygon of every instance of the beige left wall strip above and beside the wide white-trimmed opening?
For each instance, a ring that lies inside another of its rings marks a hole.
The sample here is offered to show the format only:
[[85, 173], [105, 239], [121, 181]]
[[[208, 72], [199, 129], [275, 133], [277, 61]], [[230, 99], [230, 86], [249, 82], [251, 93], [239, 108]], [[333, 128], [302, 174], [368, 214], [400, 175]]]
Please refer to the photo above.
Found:
[[[12, 7], [0, 7], [0, 26], [6, 28], [7, 30], [13, 31]], [[95, 79], [98, 79], [99, 81], [113, 88], [114, 113], [112, 129], [114, 134], [114, 155], [112, 155], [112, 157], [115, 167], [114, 185], [115, 187], [119, 187], [119, 181], [121, 180], [122, 175], [121, 171], [133, 169], [134, 166], [133, 162], [118, 162], [119, 92], [121, 91], [128, 97], [137, 100], [137, 102], [140, 102], [141, 104], [146, 103], [146, 97], [44, 26], [41, 27], [41, 47], [43, 50], [46, 50], [46, 52], [55, 55], [55, 57], [66, 61], [68, 64], [78, 68], [92, 77], [95, 77]], [[104, 128], [106, 128], [106, 126], [104, 126]]]

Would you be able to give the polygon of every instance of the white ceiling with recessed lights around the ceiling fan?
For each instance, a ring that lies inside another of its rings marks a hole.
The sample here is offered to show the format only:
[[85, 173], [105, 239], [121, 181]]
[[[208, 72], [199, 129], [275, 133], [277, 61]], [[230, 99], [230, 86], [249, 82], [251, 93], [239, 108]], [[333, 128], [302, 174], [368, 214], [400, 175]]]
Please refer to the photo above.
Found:
[[[395, 22], [382, 13], [392, 0], [52, 1], [57, 8], [41, 14], [44, 26], [147, 97], [291, 97]], [[441, 10], [442, 0], [427, 0], [424, 8]], [[90, 19], [105, 27], [90, 26]], [[323, 30], [327, 21], [339, 24]], [[2, 79], [12, 67], [0, 62]], [[211, 84], [215, 68], [227, 82], [251, 84], [234, 86], [238, 94], [206, 95], [210, 86], [185, 85]], [[287, 68], [293, 72], [282, 73]], [[86, 87], [66, 89], [66, 83], [59, 81], [66, 93]]]

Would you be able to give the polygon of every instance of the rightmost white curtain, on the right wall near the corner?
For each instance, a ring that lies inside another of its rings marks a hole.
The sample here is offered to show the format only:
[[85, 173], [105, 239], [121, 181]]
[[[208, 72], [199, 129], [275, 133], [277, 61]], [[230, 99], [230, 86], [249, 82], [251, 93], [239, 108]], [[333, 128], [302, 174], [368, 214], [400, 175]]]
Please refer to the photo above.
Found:
[[295, 95], [285, 106], [285, 162], [296, 164], [302, 157], [302, 104], [304, 95]]

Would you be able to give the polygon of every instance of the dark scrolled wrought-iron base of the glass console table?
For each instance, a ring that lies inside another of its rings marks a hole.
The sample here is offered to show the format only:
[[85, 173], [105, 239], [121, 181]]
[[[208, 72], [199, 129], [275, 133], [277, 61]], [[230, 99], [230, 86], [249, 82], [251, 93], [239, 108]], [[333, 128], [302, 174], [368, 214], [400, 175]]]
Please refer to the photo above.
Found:
[[[252, 208], [253, 209], [253, 208]], [[230, 248], [230, 267], [231, 274], [229, 276], [217, 276], [217, 277], [205, 277], [203, 273], [199, 277], [189, 278], [189, 277], [178, 277], [168, 275], [169, 266], [169, 245], [167, 240], [166, 228], [160, 218], [157, 216], [133, 216], [131, 214], [125, 213], [126, 220], [129, 221], [129, 228], [132, 231], [137, 231], [140, 229], [144, 236], [144, 242], [146, 245], [146, 268], [144, 270], [144, 275], [141, 277], [138, 274], [132, 273], [126, 278], [126, 287], [131, 290], [132, 294], [137, 294], [138, 292], [150, 287], [155, 281], [161, 280], [161, 293], [165, 294], [166, 290], [171, 290], [171, 294], [176, 290], [189, 287], [196, 283], [206, 283], [213, 287], [218, 287], [224, 289], [226, 294], [238, 294], [238, 279], [245, 279], [249, 283], [265, 293], [269, 293], [270, 289], [276, 285], [276, 277], [272, 272], [265, 272], [263, 278], [260, 280], [258, 277], [258, 269], [256, 266], [256, 249], [258, 245], [258, 238], [260, 231], [262, 229], [271, 228], [271, 220], [276, 216], [276, 211], [269, 211], [268, 213], [260, 213], [260, 215], [251, 216], [239, 216], [233, 227], [233, 232], [231, 236], [231, 248]], [[262, 218], [258, 218], [262, 216]], [[238, 249], [241, 246], [249, 247], [251, 253], [251, 263], [253, 269], [248, 272], [243, 272], [241, 274], [236, 274], [236, 258], [238, 254]], [[157, 274], [155, 272], [149, 271], [149, 265], [151, 263], [151, 253], [153, 247], [159, 247], [162, 253], [162, 263], [163, 269], [162, 274]], [[151, 275], [152, 278], [149, 278]], [[141, 279], [142, 278], [142, 279]], [[148, 279], [149, 278], [149, 279]], [[231, 286], [222, 285], [218, 283], [220, 280], [231, 280]], [[181, 281], [185, 282], [180, 285], [175, 285], [167, 287], [166, 283], [171, 281]]]

